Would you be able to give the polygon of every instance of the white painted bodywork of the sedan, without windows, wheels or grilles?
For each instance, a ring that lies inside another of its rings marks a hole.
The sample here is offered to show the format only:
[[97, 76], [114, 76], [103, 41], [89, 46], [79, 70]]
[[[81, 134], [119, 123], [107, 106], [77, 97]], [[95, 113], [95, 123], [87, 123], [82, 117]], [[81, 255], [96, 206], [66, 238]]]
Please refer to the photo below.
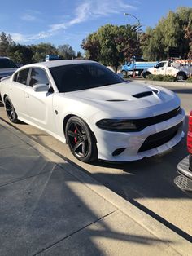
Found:
[[[98, 158], [107, 161], [133, 161], [151, 157], [172, 148], [183, 137], [185, 122], [184, 110], [166, 121], [146, 126], [137, 132], [114, 132], [98, 128], [101, 119], [141, 119], [155, 117], [172, 111], [180, 106], [180, 99], [172, 91], [159, 86], [146, 86], [137, 82], [122, 82], [88, 90], [59, 93], [49, 68], [59, 65], [94, 63], [85, 60], [55, 60], [39, 64], [26, 65], [23, 68], [43, 68], [50, 80], [54, 93], [37, 92], [33, 87], [20, 85], [13, 81], [14, 74], [0, 83], [2, 99], [8, 95], [18, 118], [30, 125], [45, 130], [63, 143], [66, 138], [63, 120], [68, 115], [81, 117], [94, 132], [97, 139]], [[155, 90], [152, 95], [137, 99], [133, 97], [141, 92]], [[110, 100], [110, 101], [109, 101]], [[111, 101], [121, 100], [121, 101]], [[142, 143], [150, 135], [182, 123], [177, 134], [168, 142], [156, 148], [138, 152]], [[125, 148], [118, 156], [113, 156], [117, 148]]]

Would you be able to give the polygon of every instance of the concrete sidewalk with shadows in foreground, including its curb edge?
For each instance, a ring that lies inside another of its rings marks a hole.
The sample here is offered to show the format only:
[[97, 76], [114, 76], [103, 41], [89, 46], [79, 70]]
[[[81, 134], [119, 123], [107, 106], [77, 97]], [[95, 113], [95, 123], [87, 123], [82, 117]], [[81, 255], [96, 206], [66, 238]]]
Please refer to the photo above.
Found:
[[190, 255], [192, 245], [0, 120], [0, 255]]

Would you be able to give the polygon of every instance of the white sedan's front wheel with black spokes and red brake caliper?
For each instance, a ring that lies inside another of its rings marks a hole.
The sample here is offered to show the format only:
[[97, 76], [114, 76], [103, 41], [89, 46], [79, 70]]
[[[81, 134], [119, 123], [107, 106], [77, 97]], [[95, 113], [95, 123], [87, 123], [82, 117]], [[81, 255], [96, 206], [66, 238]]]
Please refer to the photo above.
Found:
[[98, 158], [96, 140], [89, 126], [80, 117], [69, 118], [65, 135], [72, 154], [80, 161], [89, 163]]

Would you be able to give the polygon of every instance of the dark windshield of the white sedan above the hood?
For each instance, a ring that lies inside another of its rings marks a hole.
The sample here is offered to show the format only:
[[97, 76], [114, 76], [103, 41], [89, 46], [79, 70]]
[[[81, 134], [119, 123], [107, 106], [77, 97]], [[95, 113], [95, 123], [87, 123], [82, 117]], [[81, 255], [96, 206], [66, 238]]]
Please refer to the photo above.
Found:
[[50, 68], [59, 92], [85, 90], [124, 82], [108, 68], [97, 64], [71, 64]]

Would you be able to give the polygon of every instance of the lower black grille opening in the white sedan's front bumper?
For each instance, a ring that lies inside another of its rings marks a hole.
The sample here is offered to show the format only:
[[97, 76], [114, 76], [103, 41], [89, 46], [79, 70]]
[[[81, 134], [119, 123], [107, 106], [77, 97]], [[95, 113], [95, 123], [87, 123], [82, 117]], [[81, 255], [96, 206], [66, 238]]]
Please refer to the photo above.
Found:
[[167, 143], [171, 140], [176, 134], [179, 128], [182, 126], [182, 122], [179, 123], [177, 126], [173, 126], [168, 130], [160, 131], [154, 135], [150, 135], [146, 138], [144, 143], [142, 143], [141, 148], [139, 148], [138, 152], [143, 152], [146, 150], [150, 150], [151, 148], [157, 148], [164, 143]]

